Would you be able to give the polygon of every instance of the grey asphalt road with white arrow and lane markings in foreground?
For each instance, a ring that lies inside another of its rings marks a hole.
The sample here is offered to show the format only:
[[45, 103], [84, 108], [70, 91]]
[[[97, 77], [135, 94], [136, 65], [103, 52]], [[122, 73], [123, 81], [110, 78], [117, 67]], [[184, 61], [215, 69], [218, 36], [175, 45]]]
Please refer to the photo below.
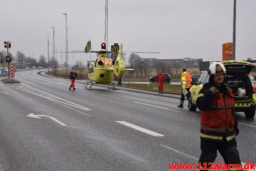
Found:
[[[198, 162], [198, 109], [102, 86], [75, 83], [70, 91], [68, 79], [37, 72], [17, 72], [21, 83], [0, 82], [0, 171], [164, 171]], [[241, 161], [256, 163], [255, 117], [237, 116]], [[215, 163], [221, 161], [218, 153]]]

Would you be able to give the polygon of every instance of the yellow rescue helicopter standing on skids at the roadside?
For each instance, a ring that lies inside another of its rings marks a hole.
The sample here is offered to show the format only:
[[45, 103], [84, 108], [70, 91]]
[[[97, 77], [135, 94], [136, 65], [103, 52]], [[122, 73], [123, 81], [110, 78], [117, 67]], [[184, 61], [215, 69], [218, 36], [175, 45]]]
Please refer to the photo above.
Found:
[[[109, 89], [117, 90], [112, 82], [114, 73], [117, 78], [121, 78], [123, 76], [124, 70], [133, 70], [124, 68], [124, 61], [121, 58], [122, 46], [123, 45], [121, 44], [117, 53], [117, 58], [115, 60], [106, 57], [106, 53], [114, 52], [106, 51], [105, 43], [101, 44], [101, 49], [99, 51], [85, 51], [98, 53], [98, 57], [93, 62], [87, 64], [88, 78], [90, 81], [84, 84], [85, 89], [90, 90], [94, 84], [107, 84]], [[90, 84], [89, 88], [87, 87], [88, 84]]]

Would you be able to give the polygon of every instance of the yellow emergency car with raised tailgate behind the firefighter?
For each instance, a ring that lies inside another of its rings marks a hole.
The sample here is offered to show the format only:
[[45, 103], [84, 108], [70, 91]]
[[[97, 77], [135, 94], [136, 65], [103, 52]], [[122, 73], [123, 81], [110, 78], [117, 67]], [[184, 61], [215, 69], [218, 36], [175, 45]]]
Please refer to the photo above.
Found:
[[[245, 61], [222, 61], [221, 63], [225, 66], [227, 72], [224, 77], [225, 85], [235, 94], [233, 109], [237, 112], [244, 112], [246, 117], [253, 118], [256, 108], [256, 89], [248, 74], [256, 65]], [[198, 93], [203, 84], [209, 82], [208, 80], [209, 75], [205, 71], [196, 82], [191, 81], [192, 86], [188, 98], [189, 110], [196, 110]]]

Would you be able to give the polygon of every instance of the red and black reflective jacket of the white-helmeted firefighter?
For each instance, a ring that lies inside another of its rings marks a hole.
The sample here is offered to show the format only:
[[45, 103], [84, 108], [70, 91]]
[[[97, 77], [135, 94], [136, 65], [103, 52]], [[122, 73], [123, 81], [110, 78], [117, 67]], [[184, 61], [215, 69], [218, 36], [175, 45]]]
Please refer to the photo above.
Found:
[[212, 93], [209, 90], [211, 87], [211, 82], [204, 84], [196, 100], [196, 105], [201, 110], [200, 137], [209, 141], [223, 141], [225, 137], [229, 142], [236, 137], [233, 127], [237, 124], [237, 119], [232, 109], [235, 104], [234, 94], [224, 84], [224, 95], [218, 90], [217, 93]]

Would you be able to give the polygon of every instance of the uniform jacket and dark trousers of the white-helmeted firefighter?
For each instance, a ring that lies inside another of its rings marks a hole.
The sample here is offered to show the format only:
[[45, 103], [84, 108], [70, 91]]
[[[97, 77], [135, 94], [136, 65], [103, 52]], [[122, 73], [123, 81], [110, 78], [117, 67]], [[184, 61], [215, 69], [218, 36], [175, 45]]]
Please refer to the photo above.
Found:
[[218, 150], [226, 164], [241, 164], [235, 139], [239, 129], [232, 109], [234, 95], [224, 84], [220, 87], [215, 86], [216, 93], [209, 90], [211, 87], [213, 87], [212, 82], [204, 84], [196, 100], [196, 105], [201, 111], [200, 149], [202, 152], [199, 162], [206, 162], [209, 168], [208, 163], [215, 161]]

